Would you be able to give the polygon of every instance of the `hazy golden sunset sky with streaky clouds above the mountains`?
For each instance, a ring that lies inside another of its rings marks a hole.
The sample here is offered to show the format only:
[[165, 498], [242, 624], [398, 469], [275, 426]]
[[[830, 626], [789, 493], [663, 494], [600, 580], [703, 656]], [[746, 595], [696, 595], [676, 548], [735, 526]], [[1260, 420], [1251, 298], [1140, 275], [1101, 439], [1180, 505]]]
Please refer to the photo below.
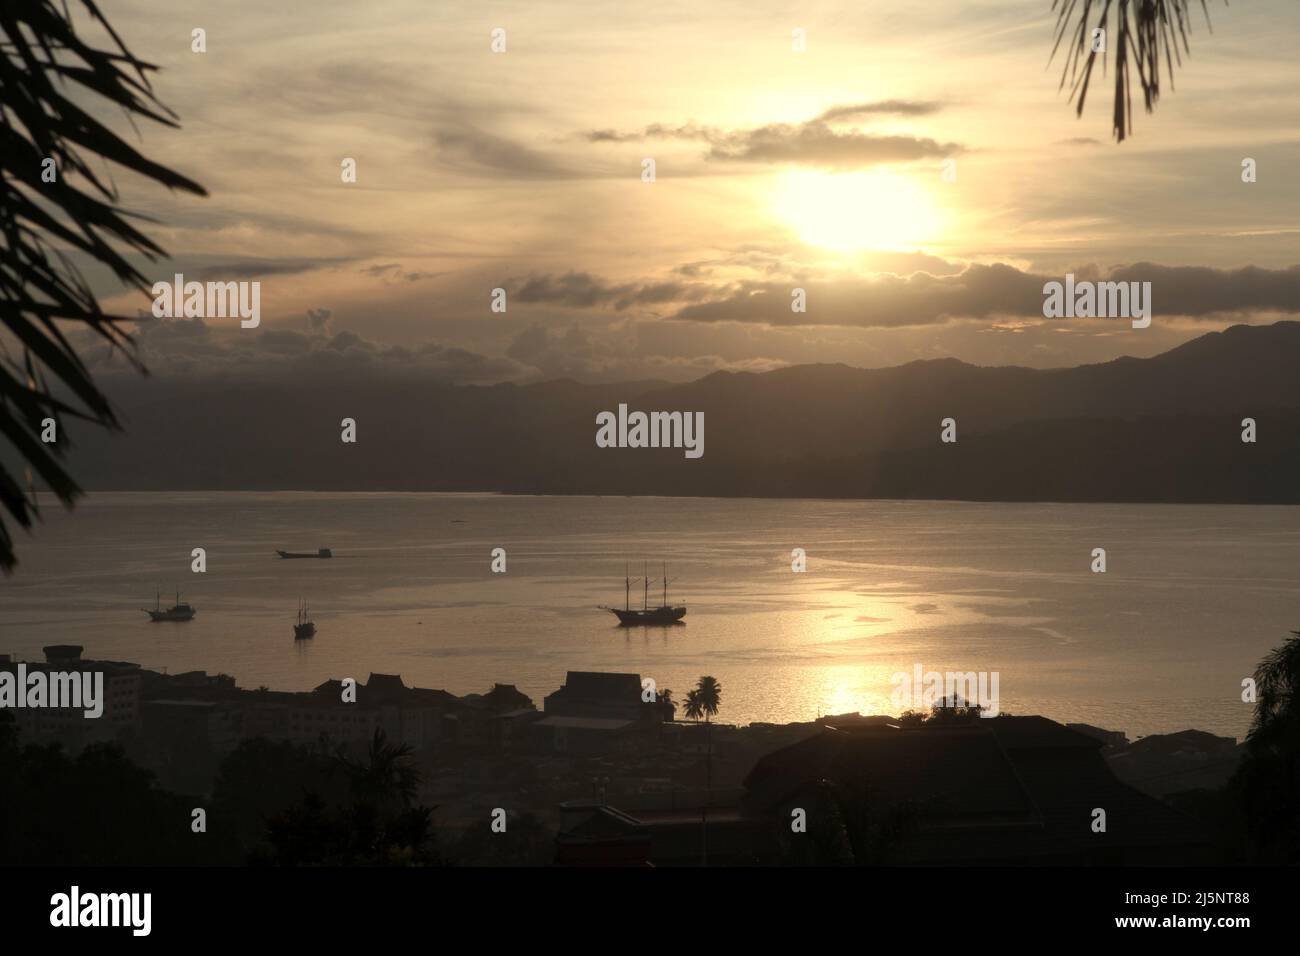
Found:
[[[240, 329], [88, 271], [164, 376], [1062, 367], [1300, 311], [1291, 0], [1197, 5], [1123, 143], [1113, 69], [1082, 117], [1060, 88], [1049, 0], [109, 7], [181, 129], [105, 117], [209, 193], [118, 177], [172, 256], [142, 271], [261, 282]], [[1044, 319], [1067, 272], [1152, 281], [1150, 328]]]

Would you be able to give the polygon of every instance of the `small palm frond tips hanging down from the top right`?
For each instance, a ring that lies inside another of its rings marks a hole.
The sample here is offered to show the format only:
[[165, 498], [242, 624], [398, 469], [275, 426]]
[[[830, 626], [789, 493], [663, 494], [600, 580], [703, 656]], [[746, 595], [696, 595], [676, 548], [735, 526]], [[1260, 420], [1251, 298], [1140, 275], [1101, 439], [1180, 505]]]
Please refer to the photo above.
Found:
[[[1226, 3], [1226, 0], [1225, 0]], [[1143, 103], [1147, 112], [1156, 108], [1160, 100], [1161, 60], [1169, 74], [1169, 87], [1174, 87], [1174, 64], [1183, 65], [1183, 53], [1191, 53], [1187, 35], [1191, 33], [1192, 0], [1052, 0], [1052, 9], [1058, 10], [1056, 43], [1052, 57], [1056, 59], [1062, 40], [1072, 35], [1067, 44], [1065, 65], [1061, 70], [1061, 87], [1070, 81], [1070, 98], [1075, 101], [1075, 116], [1083, 116], [1083, 101], [1088, 95], [1088, 83], [1097, 61], [1092, 43], [1092, 30], [1101, 29], [1106, 35], [1105, 49], [1115, 51], [1115, 96], [1112, 131], [1117, 142], [1134, 131], [1132, 117], [1132, 73], [1138, 73]], [[1209, 8], [1200, 0], [1205, 23], [1209, 26]], [[1112, 29], [1110, 14], [1115, 14]], [[1092, 14], [1096, 12], [1096, 17]], [[1182, 43], [1182, 51], [1179, 51]]]

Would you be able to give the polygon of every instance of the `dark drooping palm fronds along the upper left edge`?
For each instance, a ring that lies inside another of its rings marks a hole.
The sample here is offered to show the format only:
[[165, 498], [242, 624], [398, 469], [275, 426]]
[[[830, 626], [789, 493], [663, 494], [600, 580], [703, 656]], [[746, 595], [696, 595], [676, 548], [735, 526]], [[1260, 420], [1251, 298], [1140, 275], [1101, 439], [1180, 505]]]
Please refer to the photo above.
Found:
[[[8, 512], [21, 528], [31, 528], [39, 518], [32, 472], [65, 506], [81, 496], [60, 462], [68, 447], [64, 421], [118, 428], [108, 398], [65, 334], [66, 324], [88, 329], [143, 371], [122, 329], [126, 316], [100, 310], [68, 254], [77, 252], [144, 291], [144, 276], [126, 256], [153, 261], [165, 252], [127, 221], [142, 217], [122, 209], [117, 189], [95, 168], [113, 163], [169, 189], [205, 195], [196, 182], [146, 159], [91, 114], [113, 105], [133, 120], [177, 126], [176, 114], [150, 86], [155, 66], [131, 55], [95, 0], [81, 4], [112, 44], [86, 43], [70, 10], [55, 0], [0, 7], [0, 332], [16, 346], [10, 350], [0, 336], [0, 437], [25, 468], [20, 476], [0, 464], [5, 574], [16, 558], [3, 515]], [[83, 108], [65, 95], [70, 91], [99, 101]], [[46, 419], [55, 423], [52, 444], [42, 441]]]

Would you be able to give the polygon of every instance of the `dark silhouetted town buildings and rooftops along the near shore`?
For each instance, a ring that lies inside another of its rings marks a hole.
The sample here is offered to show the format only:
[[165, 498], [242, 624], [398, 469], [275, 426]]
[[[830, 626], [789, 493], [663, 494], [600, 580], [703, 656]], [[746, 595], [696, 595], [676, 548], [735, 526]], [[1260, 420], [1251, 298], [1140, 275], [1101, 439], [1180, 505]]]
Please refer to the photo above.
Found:
[[458, 697], [369, 674], [243, 689], [229, 675], [86, 659], [74, 645], [26, 667], [103, 672], [105, 708], [100, 719], [16, 710], [23, 741], [121, 743], [164, 788], [202, 795], [242, 741], [361, 756], [381, 731], [410, 748], [417, 799], [439, 826], [484, 826], [495, 808], [533, 814], [562, 865], [1218, 862], [1190, 817], [1113, 770], [1141, 779], [1152, 760], [1183, 773], [1236, 754], [1197, 732], [1121, 745], [1043, 717], [706, 728], [666, 719], [637, 674], [569, 671], [538, 711], [510, 684]]

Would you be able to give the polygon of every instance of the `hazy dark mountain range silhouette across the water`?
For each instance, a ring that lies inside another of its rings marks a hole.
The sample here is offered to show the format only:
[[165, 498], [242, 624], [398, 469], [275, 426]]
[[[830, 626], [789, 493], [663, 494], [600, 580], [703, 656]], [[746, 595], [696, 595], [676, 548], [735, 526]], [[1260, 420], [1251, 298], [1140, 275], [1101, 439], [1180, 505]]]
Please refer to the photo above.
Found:
[[[1300, 323], [1278, 323], [1046, 371], [941, 359], [684, 385], [142, 380], [117, 392], [126, 436], [78, 436], [73, 462], [96, 489], [1296, 502], [1297, 368]], [[595, 415], [619, 402], [703, 411], [703, 458], [598, 449]], [[949, 416], [954, 445], [940, 442]], [[1257, 444], [1242, 442], [1243, 418]]]

